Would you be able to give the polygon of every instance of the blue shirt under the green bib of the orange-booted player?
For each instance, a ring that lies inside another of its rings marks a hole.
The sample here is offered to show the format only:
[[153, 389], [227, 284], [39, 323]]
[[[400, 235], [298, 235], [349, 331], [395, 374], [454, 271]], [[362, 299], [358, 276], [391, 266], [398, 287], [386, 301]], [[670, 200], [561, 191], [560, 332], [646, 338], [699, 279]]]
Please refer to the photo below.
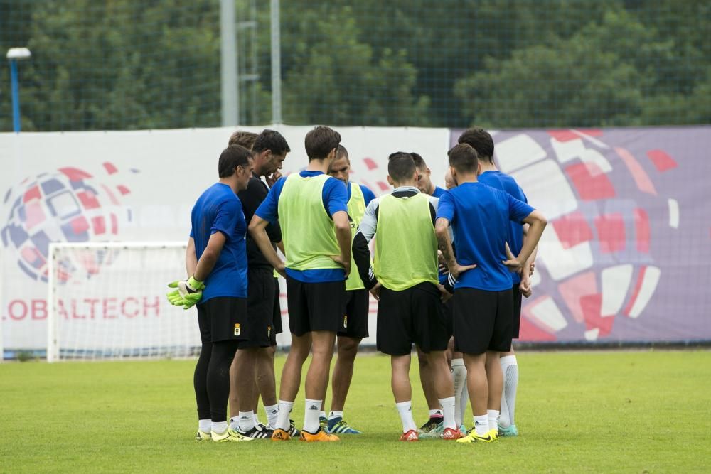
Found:
[[[319, 176], [320, 174], [324, 173], [321, 171], [299, 171], [299, 175], [304, 178]], [[287, 178], [284, 176], [274, 183], [269, 190], [269, 194], [267, 194], [267, 198], [257, 208], [255, 215], [272, 222], [272, 224], [279, 220], [279, 196], [282, 194], [286, 181]], [[341, 210], [348, 212], [348, 191], [343, 181], [329, 177], [324, 183], [321, 200], [329, 216], [333, 216], [333, 214]], [[292, 270], [287, 268], [287, 275], [304, 283], [324, 283], [326, 281], [343, 281], [346, 279], [342, 269]]]

